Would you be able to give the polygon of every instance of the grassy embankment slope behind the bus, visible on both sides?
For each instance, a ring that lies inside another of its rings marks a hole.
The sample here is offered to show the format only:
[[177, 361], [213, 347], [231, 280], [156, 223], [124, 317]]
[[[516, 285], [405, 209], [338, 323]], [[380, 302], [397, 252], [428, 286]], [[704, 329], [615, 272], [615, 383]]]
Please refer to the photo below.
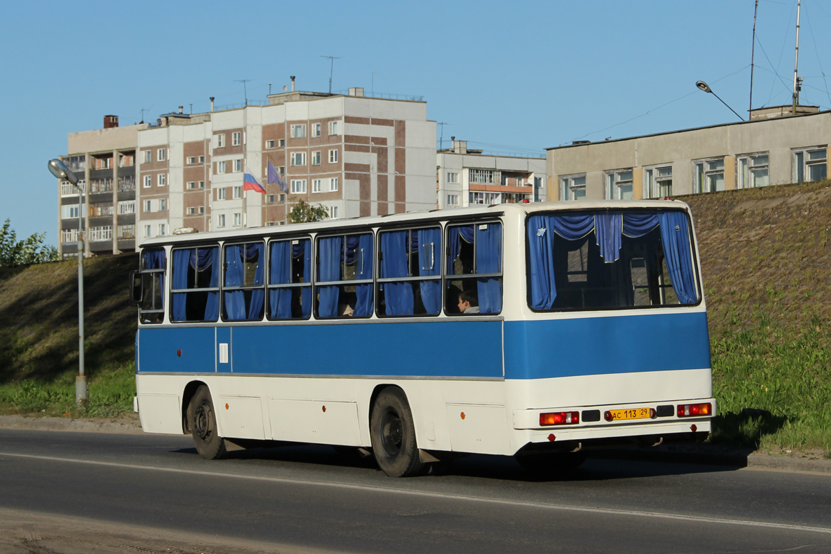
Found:
[[[715, 439], [831, 450], [831, 186], [682, 198], [696, 219], [723, 414]], [[135, 254], [86, 272], [86, 373], [100, 413], [129, 409]], [[0, 268], [0, 411], [71, 410], [76, 263]], [[92, 409], [96, 409], [93, 404]], [[765, 410], [761, 416], [745, 408]]]

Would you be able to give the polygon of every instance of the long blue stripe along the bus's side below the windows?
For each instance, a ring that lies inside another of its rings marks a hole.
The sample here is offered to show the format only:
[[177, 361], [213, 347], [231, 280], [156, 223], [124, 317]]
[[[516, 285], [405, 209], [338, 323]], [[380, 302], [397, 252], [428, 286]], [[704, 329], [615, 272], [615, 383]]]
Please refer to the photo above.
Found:
[[[216, 371], [214, 329], [141, 328], [138, 371]], [[502, 321], [234, 326], [230, 355], [245, 374], [501, 379]]]

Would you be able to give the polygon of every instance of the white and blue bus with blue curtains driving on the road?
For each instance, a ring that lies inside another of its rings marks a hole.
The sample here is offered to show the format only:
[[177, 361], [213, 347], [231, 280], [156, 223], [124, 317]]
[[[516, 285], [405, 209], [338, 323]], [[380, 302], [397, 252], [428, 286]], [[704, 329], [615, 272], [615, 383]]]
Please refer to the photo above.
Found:
[[715, 415], [690, 210], [519, 203], [146, 240], [137, 409], [199, 453], [455, 453], [556, 470], [700, 441]]

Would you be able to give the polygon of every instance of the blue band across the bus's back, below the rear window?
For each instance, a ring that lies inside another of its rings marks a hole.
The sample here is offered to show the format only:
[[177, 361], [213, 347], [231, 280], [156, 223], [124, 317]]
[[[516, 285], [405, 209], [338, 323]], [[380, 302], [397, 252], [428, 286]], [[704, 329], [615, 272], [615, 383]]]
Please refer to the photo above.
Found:
[[707, 316], [505, 322], [505, 379], [710, 368]]

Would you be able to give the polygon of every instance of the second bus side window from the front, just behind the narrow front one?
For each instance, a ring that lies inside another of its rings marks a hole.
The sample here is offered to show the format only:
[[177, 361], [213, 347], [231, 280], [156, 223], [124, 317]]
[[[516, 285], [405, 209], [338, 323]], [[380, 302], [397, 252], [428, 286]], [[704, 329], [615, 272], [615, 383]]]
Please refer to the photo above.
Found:
[[173, 251], [170, 319], [216, 321], [219, 317], [219, 247]]

